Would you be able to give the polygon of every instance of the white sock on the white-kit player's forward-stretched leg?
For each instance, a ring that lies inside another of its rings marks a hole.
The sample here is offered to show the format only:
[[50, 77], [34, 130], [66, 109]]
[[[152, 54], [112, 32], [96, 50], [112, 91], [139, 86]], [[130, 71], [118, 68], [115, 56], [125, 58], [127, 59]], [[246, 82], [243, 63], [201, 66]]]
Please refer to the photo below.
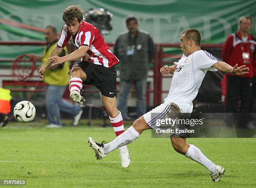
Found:
[[104, 154], [108, 154], [118, 147], [130, 144], [139, 136], [140, 134], [133, 128], [133, 126], [129, 127], [123, 134], [116, 137], [115, 140], [109, 142], [108, 144], [104, 144]]

